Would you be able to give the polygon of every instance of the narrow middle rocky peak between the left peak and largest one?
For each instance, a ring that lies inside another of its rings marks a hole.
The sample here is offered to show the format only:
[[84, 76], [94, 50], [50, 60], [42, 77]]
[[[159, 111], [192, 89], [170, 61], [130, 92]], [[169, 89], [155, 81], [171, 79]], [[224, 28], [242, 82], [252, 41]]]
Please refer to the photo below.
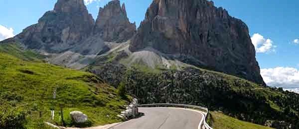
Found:
[[94, 35], [99, 35], [108, 42], [125, 42], [135, 33], [136, 24], [130, 23], [125, 4], [121, 6], [119, 0], [112, 0], [104, 8], [100, 8], [93, 29]]

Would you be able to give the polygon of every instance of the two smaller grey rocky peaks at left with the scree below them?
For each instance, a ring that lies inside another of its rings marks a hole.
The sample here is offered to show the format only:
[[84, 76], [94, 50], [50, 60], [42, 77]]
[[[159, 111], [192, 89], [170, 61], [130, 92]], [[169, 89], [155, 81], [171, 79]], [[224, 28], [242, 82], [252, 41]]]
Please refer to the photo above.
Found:
[[14, 40], [49, 56], [52, 64], [81, 69], [109, 51], [112, 43], [127, 41], [135, 33], [136, 25], [130, 23], [125, 4], [121, 6], [119, 0], [100, 8], [96, 22], [83, 0], [58, 0], [53, 10]]

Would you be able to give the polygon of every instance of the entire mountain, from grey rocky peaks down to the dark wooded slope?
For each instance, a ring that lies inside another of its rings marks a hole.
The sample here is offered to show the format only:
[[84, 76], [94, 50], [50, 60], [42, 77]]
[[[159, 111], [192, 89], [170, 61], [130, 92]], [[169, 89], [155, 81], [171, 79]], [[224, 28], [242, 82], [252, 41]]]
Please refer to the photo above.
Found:
[[153, 0], [136, 30], [119, 0], [100, 8], [95, 21], [83, 0], [58, 0], [37, 24], [0, 42], [0, 51], [18, 43], [25, 59], [39, 59], [28, 58], [34, 50], [115, 87], [124, 82], [142, 104], [201, 105], [261, 125], [299, 127], [298, 95], [264, 87], [248, 27], [212, 1]]

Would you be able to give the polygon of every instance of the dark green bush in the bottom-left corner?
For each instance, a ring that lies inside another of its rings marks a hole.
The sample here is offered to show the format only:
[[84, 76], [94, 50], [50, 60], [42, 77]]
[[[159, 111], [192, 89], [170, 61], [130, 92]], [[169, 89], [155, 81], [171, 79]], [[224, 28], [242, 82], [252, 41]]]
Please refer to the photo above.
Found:
[[0, 129], [24, 129], [25, 111], [10, 105], [0, 106]]

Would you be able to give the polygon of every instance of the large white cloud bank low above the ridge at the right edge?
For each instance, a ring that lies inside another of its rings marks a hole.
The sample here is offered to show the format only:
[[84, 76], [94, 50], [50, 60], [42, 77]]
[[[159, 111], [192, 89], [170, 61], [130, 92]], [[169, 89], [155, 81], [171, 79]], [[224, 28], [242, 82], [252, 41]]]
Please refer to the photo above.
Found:
[[276, 67], [261, 69], [261, 75], [267, 85], [283, 87], [299, 93], [299, 70], [293, 67]]

